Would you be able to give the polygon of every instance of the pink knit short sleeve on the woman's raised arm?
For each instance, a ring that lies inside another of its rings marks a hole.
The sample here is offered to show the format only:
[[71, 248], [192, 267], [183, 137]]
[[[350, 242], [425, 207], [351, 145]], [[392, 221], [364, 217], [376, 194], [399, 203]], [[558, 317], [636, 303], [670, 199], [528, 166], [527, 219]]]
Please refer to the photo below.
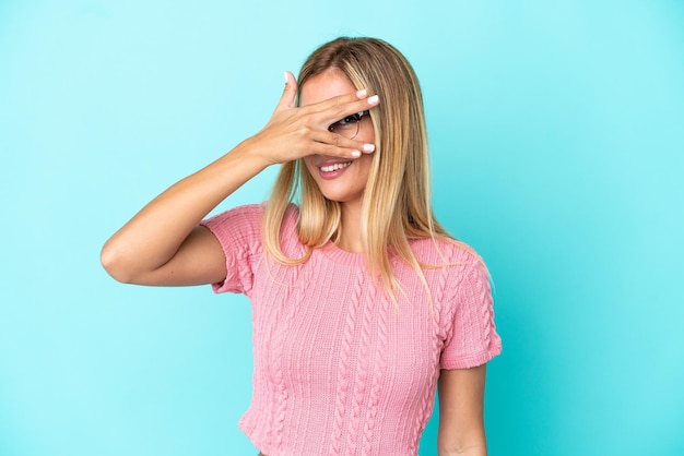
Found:
[[263, 205], [238, 206], [202, 220], [223, 249], [226, 278], [212, 284], [214, 292], [248, 293], [253, 285], [258, 257], [262, 249]]

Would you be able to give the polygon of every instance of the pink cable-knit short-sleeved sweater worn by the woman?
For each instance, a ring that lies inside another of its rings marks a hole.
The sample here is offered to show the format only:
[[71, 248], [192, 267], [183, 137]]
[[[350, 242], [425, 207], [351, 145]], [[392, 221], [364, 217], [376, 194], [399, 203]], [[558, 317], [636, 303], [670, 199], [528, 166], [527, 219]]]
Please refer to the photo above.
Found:
[[[268, 456], [415, 456], [433, 411], [440, 369], [464, 369], [500, 352], [488, 277], [464, 244], [412, 243], [417, 275], [394, 261], [404, 295], [399, 310], [375, 286], [362, 254], [329, 243], [300, 266], [264, 253], [262, 205], [203, 221], [220, 240], [227, 277], [216, 292], [252, 304], [253, 394], [239, 425]], [[283, 249], [302, 256], [297, 209], [288, 211]]]

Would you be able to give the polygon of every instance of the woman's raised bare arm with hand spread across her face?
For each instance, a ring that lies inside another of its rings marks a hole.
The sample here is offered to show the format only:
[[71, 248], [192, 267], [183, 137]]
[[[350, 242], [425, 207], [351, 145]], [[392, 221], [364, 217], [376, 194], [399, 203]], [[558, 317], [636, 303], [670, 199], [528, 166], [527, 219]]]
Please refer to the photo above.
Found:
[[198, 227], [207, 214], [270, 165], [310, 154], [355, 158], [364, 151], [362, 142], [331, 133], [328, 125], [368, 109], [365, 91], [295, 108], [296, 89], [294, 76], [286, 73], [283, 96], [259, 133], [172, 185], [119, 229], [102, 250], [107, 273], [140, 285], [221, 281], [226, 276], [221, 245], [208, 229]]

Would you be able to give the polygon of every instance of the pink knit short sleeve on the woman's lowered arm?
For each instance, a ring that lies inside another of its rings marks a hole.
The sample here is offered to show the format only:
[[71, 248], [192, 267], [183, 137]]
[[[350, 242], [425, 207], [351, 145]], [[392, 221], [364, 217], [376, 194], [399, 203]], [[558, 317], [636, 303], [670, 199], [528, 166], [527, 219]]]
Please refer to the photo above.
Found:
[[484, 364], [502, 351], [502, 339], [494, 324], [490, 275], [481, 260], [474, 260], [457, 284], [455, 310], [441, 352], [441, 369], [469, 369]]

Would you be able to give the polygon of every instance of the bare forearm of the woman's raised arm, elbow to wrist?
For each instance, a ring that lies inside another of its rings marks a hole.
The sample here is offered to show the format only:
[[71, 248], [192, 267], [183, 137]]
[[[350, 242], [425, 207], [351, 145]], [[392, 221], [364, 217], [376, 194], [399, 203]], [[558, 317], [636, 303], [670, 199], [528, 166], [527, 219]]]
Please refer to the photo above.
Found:
[[164, 265], [207, 214], [267, 166], [249, 140], [239, 144], [143, 207], [105, 243], [103, 265], [121, 281]]

